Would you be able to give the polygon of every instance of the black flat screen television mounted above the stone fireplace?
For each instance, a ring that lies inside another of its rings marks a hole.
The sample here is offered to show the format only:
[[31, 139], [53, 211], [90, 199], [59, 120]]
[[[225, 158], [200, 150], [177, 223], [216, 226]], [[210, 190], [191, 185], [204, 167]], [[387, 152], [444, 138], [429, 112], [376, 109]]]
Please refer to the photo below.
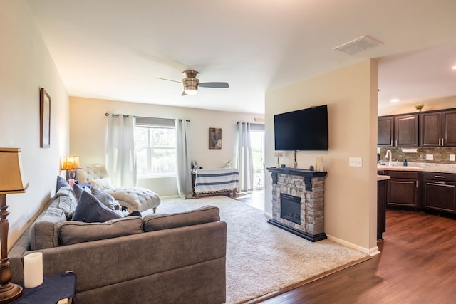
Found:
[[328, 105], [274, 115], [276, 150], [328, 150]]

